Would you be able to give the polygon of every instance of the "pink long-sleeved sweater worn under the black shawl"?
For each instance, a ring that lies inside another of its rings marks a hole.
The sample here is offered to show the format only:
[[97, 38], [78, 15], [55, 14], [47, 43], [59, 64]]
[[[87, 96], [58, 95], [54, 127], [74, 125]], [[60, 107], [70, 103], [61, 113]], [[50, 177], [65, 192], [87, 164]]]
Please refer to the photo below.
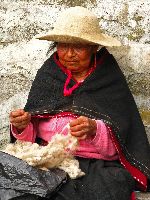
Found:
[[[60, 133], [72, 119], [73, 116], [55, 117], [51, 119], [35, 119], [35, 124], [31, 122], [25, 130], [18, 134], [15, 127], [11, 126], [12, 134], [16, 139], [35, 142], [36, 136], [50, 141], [52, 136]], [[97, 132], [94, 138], [80, 140], [76, 156], [85, 158], [96, 158], [104, 160], [117, 160], [118, 154], [110, 138], [107, 126], [101, 120], [96, 120]], [[62, 134], [68, 134], [68, 129], [64, 129]]]

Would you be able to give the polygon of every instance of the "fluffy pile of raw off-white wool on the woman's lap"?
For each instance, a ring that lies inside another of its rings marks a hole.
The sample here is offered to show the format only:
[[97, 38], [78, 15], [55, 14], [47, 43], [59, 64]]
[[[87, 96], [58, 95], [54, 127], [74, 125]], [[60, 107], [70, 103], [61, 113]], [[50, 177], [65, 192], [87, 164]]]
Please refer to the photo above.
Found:
[[77, 139], [70, 133], [68, 135], [57, 133], [47, 146], [17, 140], [14, 144], [8, 144], [4, 152], [43, 170], [63, 169], [70, 178], [75, 179], [85, 175], [79, 168], [78, 160], [71, 153], [75, 151], [77, 145]]

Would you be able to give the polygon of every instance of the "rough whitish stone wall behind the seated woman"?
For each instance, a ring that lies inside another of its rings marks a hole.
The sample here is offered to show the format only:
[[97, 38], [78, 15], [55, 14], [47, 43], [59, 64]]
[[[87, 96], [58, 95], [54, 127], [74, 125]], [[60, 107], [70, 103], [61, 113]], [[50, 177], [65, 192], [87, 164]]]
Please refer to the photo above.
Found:
[[[49, 44], [35, 40], [53, 28], [59, 12], [86, 6], [99, 17], [104, 33], [122, 42], [108, 48], [126, 76], [150, 141], [149, 0], [1, 0], [0, 1], [0, 147], [9, 140], [9, 112], [22, 108]], [[138, 199], [148, 199], [145, 194]]]

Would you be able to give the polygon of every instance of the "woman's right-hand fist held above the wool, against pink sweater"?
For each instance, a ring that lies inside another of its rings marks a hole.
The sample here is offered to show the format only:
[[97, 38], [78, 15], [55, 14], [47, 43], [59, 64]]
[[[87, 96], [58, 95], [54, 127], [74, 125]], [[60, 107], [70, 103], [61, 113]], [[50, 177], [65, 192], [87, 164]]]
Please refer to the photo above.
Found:
[[92, 137], [96, 134], [97, 124], [95, 120], [81, 116], [70, 122], [71, 135], [80, 140]]

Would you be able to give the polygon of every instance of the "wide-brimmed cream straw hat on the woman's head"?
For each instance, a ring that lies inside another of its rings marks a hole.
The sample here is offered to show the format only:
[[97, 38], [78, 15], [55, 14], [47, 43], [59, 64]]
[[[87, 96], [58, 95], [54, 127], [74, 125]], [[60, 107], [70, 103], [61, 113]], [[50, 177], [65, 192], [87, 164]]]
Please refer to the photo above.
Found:
[[63, 43], [89, 43], [103, 46], [120, 46], [121, 43], [106, 34], [99, 27], [96, 15], [80, 6], [63, 11], [54, 24], [54, 29], [46, 35], [36, 37]]

